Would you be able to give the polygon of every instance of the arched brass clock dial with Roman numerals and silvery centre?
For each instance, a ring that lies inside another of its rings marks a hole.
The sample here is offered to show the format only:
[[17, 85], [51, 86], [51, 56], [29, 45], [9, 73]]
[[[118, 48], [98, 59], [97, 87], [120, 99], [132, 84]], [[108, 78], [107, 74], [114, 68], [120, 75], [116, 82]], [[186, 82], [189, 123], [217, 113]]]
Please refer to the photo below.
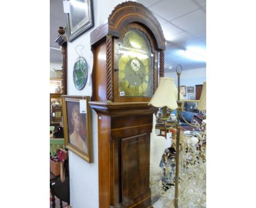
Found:
[[153, 95], [153, 56], [147, 36], [129, 30], [119, 46], [119, 96]]

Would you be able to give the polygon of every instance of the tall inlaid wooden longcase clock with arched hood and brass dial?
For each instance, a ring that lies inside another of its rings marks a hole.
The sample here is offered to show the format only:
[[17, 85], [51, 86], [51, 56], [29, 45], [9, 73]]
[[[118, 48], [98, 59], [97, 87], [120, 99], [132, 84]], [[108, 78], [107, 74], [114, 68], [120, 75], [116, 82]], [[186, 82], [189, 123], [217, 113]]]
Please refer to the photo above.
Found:
[[161, 26], [142, 4], [124, 2], [92, 31], [91, 49], [89, 104], [98, 115], [99, 206], [150, 207], [150, 133], [156, 108], [148, 101], [158, 77], [164, 76]]

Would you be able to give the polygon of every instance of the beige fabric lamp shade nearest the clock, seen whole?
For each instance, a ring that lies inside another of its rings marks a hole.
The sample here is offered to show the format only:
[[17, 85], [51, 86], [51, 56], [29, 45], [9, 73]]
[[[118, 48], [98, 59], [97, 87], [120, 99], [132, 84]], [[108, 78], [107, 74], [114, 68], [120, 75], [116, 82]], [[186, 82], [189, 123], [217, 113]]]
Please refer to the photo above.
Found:
[[[180, 94], [180, 98], [184, 97]], [[152, 99], [149, 101], [148, 105], [154, 107], [168, 107], [172, 110], [178, 107], [178, 89], [174, 84], [173, 78], [160, 77], [158, 88], [155, 90], [155, 93]]]

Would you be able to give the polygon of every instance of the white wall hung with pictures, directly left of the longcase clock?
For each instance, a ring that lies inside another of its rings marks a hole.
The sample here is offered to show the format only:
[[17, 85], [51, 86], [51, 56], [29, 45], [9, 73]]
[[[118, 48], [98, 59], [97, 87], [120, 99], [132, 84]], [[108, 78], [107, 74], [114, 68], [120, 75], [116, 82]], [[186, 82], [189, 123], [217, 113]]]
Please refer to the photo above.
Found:
[[[72, 42], [68, 42], [68, 95], [92, 95], [92, 86], [86, 83], [83, 90], [77, 90], [73, 82], [73, 66], [78, 54], [75, 47], [83, 45], [83, 57], [92, 70], [93, 55], [90, 46], [90, 33], [97, 26], [107, 20], [114, 7], [121, 3], [121, 0], [94, 0], [94, 23], [95, 26], [80, 35]], [[90, 82], [91, 83], [91, 82]], [[73, 208], [97, 208], [98, 207], [98, 134], [97, 114], [91, 109], [92, 114], [92, 155], [93, 163], [89, 164], [73, 152], [69, 151], [69, 179], [70, 199]]]

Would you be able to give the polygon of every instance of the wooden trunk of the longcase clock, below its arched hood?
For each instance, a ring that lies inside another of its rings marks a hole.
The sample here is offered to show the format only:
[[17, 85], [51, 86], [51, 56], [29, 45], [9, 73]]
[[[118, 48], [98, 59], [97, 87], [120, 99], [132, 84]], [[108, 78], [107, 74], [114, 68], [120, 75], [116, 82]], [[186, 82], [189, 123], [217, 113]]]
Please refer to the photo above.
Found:
[[98, 115], [99, 206], [150, 207], [150, 133], [156, 108], [147, 102], [89, 102]]

